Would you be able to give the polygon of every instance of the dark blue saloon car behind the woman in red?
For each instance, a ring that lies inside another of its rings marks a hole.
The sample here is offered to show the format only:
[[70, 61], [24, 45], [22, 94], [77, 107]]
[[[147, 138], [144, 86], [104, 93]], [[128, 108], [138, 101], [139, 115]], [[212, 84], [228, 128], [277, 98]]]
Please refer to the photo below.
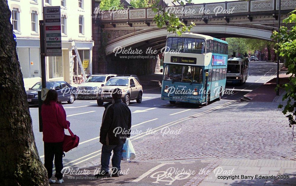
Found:
[[[67, 101], [72, 104], [77, 96], [77, 88], [72, 87], [65, 81], [47, 81], [46, 88], [57, 90], [58, 100]], [[26, 91], [28, 103], [30, 105], [38, 105], [38, 91], [41, 91], [42, 83], [36, 83], [32, 88]]]

